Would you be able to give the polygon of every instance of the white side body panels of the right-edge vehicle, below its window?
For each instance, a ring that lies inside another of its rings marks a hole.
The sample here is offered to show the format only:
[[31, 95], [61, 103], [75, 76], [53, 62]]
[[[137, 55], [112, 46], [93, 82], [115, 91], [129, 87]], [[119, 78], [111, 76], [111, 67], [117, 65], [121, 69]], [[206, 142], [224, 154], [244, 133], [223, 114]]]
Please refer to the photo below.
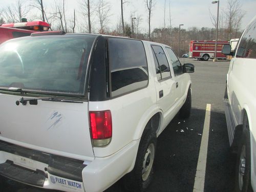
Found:
[[251, 182], [256, 190], [256, 59], [232, 59], [228, 74], [228, 98], [233, 119], [243, 124], [244, 114], [248, 116], [251, 143]]

